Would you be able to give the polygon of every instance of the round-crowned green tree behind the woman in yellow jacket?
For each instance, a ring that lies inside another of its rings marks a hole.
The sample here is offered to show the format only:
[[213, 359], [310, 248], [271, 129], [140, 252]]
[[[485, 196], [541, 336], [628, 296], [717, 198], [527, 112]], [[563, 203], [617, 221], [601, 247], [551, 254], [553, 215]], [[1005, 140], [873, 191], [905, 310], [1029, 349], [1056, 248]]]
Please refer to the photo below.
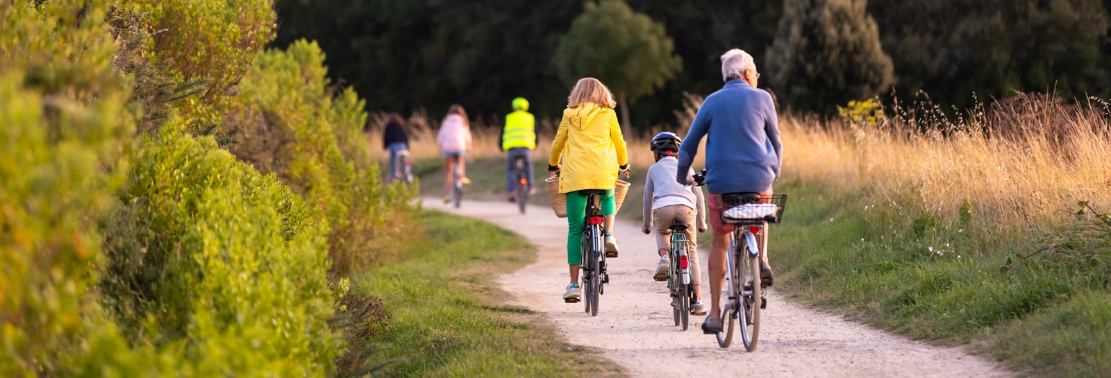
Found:
[[564, 83], [595, 78], [610, 88], [629, 123], [629, 102], [652, 94], [682, 68], [663, 24], [621, 0], [588, 2], [556, 49], [552, 63]]

